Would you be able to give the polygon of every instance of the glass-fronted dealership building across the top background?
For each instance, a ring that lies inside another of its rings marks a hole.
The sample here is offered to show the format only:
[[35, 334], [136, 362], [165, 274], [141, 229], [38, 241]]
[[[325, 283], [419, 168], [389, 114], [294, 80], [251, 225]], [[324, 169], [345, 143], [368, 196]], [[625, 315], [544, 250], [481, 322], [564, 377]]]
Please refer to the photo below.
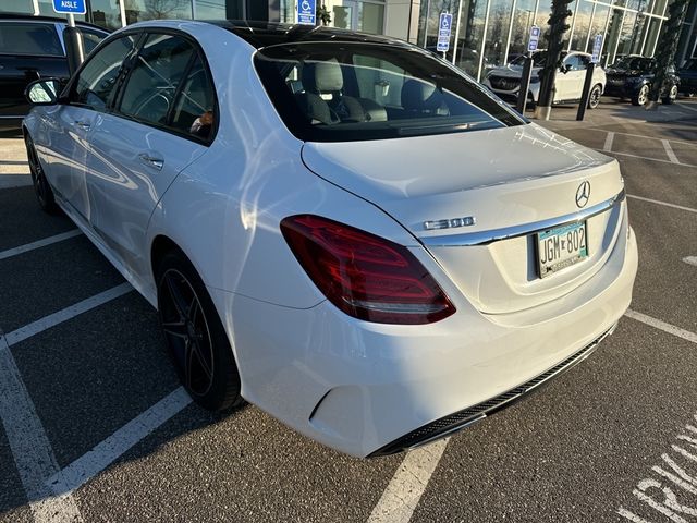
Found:
[[[109, 28], [152, 19], [236, 19], [295, 22], [298, 0], [85, 0], [77, 16]], [[590, 51], [603, 36], [603, 65], [620, 54], [656, 53], [672, 0], [574, 0], [570, 3], [568, 50]], [[546, 29], [551, 0], [317, 0], [328, 25], [402, 38], [436, 49], [439, 17], [452, 14], [447, 58], [474, 76], [525, 51], [529, 28]], [[2, 0], [0, 12], [54, 15], [52, 0]], [[697, 1], [690, 1], [676, 56], [697, 58]], [[542, 32], [543, 33], [543, 32]], [[545, 47], [545, 39], [540, 40]]]

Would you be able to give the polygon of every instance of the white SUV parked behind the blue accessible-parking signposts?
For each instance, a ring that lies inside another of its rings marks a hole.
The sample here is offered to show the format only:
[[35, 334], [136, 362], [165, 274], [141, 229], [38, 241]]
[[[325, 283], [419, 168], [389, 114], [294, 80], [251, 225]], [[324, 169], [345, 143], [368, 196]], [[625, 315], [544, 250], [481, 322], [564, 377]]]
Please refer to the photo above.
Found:
[[[492, 69], [484, 78], [484, 85], [489, 87], [499, 97], [516, 101], [521, 92], [521, 77], [525, 57], [514, 59], [510, 64]], [[554, 80], [554, 98], [552, 104], [576, 104], [580, 101], [586, 68], [590, 63], [590, 54], [586, 52], [563, 52], [562, 66]], [[534, 108], [540, 95], [539, 72], [547, 61], [547, 51], [537, 51], [533, 54], [533, 74], [527, 94], [527, 107]], [[600, 104], [600, 97], [606, 86], [606, 73], [602, 68], [596, 68], [592, 74], [592, 86], [588, 98], [588, 108], [595, 109]]]

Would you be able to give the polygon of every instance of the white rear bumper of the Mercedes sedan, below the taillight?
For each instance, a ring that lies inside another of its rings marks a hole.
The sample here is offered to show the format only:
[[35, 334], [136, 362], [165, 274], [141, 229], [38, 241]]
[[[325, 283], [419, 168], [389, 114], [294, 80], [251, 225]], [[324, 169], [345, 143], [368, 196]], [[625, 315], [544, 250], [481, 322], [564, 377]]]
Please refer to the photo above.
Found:
[[[482, 315], [432, 259], [428, 268], [457, 313], [431, 325], [369, 324], [328, 302], [294, 309], [210, 293], [233, 343], [243, 397], [363, 458], [462, 428], [583, 360], [632, 299], [637, 250], [626, 224], [606, 265], [584, 289], [547, 304], [547, 319], [530, 311]], [[550, 318], [549, 311], [558, 313]]]

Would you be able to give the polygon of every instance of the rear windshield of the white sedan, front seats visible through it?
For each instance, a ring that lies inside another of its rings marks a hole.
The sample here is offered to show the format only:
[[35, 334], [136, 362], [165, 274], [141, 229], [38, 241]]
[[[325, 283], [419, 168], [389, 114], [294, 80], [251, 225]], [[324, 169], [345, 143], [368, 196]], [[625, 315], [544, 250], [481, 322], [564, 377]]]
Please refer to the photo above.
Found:
[[268, 47], [255, 64], [289, 130], [307, 142], [423, 136], [526, 121], [427, 52], [370, 44]]

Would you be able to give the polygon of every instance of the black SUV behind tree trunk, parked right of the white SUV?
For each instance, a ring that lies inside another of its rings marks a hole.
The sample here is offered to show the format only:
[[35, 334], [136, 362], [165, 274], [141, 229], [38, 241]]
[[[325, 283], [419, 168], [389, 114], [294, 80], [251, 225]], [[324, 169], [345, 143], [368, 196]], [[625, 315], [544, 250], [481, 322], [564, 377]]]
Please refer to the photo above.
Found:
[[[604, 95], [617, 98], [629, 98], [635, 106], [643, 106], [649, 99], [649, 90], [653, 81], [656, 59], [636, 54], [622, 57], [606, 69], [608, 84]], [[677, 98], [680, 76], [675, 66], [668, 69], [668, 87], [661, 92], [663, 104], [672, 104]]]

